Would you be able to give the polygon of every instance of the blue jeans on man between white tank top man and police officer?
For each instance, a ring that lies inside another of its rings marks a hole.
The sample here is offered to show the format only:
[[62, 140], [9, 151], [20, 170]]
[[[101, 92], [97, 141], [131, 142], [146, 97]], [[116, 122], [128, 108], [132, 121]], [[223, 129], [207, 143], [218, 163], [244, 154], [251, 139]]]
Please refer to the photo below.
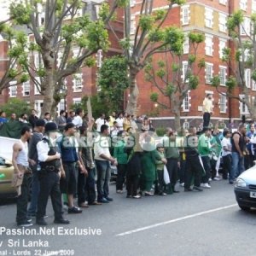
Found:
[[38, 195], [40, 191], [40, 183], [38, 180], [38, 171], [32, 173], [32, 196], [30, 205], [27, 210], [28, 216], [35, 216], [38, 208]]

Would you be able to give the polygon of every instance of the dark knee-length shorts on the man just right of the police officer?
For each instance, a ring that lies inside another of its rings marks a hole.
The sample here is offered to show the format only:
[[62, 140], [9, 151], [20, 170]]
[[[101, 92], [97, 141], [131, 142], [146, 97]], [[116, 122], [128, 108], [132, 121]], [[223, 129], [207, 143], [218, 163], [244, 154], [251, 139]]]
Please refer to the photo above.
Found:
[[61, 177], [60, 189], [61, 193], [67, 195], [75, 195], [77, 193], [77, 169], [75, 163], [63, 163], [66, 177]]

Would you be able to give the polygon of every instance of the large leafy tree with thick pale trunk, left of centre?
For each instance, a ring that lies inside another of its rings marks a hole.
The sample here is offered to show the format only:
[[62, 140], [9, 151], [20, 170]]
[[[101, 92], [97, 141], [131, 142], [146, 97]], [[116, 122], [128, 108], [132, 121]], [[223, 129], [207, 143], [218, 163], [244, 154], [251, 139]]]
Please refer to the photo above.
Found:
[[[44, 96], [42, 113], [55, 113], [65, 78], [78, 73], [81, 67], [93, 66], [96, 51], [108, 49], [106, 24], [114, 10], [124, 3], [125, 0], [113, 0], [111, 8], [108, 3], [102, 3], [97, 18], [91, 11], [79, 15], [84, 7], [81, 0], [30, 0], [23, 3], [26, 15], [20, 14], [15, 22], [26, 25], [34, 37], [29, 45], [33, 63], [28, 62], [26, 71]], [[18, 7], [13, 3], [11, 14], [19, 12]], [[78, 49], [75, 53], [73, 47]]]

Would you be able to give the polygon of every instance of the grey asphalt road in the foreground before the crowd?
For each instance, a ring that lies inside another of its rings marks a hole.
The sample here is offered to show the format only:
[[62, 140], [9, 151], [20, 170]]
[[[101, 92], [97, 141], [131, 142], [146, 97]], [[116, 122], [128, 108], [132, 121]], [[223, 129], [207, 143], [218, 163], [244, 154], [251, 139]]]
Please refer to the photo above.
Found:
[[256, 255], [256, 211], [240, 210], [230, 184], [215, 181], [201, 193], [178, 189], [179, 194], [134, 200], [115, 194], [112, 184], [113, 202], [67, 215], [66, 234], [53, 224], [49, 202], [49, 235], [36, 224], [28, 228], [36, 235], [9, 235], [8, 229], [16, 230], [10, 203], [0, 207], [0, 255]]

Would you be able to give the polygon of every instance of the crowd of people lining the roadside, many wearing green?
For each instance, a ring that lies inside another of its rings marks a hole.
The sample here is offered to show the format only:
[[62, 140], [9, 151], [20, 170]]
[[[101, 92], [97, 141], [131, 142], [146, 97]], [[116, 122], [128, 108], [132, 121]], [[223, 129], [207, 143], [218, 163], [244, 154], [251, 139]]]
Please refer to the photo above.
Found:
[[[69, 224], [63, 216], [81, 213], [82, 208], [113, 201], [109, 195], [111, 170], [117, 168], [116, 193], [126, 198], [172, 195], [180, 192], [202, 192], [211, 189], [212, 180], [220, 178], [233, 184], [236, 177], [253, 166], [256, 132], [253, 123], [238, 126], [237, 131], [197, 131], [190, 127], [180, 134], [171, 127], [164, 137], [157, 137], [147, 117], [137, 119], [129, 114], [104, 113], [89, 118], [82, 109], [68, 117], [61, 111], [52, 121], [35, 114], [29, 126], [21, 131], [15, 143], [15, 173], [23, 178], [17, 200], [16, 222], [20, 226], [46, 225], [46, 206], [50, 195], [55, 223]], [[61, 131], [61, 132], [60, 132]], [[28, 143], [29, 142], [29, 143]], [[222, 158], [222, 175], [218, 172]], [[27, 209], [29, 182], [32, 198]], [[77, 199], [77, 200], [76, 200]]]

